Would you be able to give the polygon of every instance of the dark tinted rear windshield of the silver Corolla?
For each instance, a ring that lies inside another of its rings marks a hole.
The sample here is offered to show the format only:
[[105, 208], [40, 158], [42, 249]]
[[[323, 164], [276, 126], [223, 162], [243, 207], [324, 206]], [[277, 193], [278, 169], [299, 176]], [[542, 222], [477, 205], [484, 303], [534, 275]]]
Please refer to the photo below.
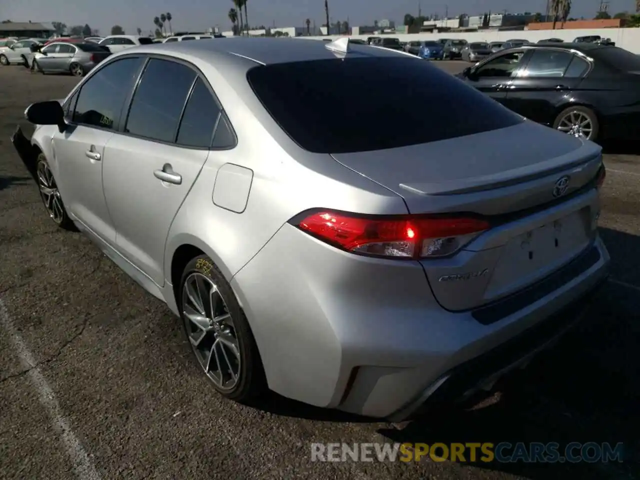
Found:
[[[275, 63], [252, 68], [247, 79], [291, 139], [316, 153], [404, 147], [524, 121], [429, 62], [404, 56]], [[372, 119], [383, 126], [372, 127]]]

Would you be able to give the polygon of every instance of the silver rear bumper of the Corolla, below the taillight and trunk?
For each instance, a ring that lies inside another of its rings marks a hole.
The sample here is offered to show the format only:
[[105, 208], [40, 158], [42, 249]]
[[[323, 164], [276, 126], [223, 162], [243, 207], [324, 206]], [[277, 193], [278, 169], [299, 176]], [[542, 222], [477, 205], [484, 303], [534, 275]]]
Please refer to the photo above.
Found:
[[[566, 317], [559, 312], [579, 305], [607, 275], [609, 254], [599, 237], [591, 248], [597, 260], [590, 266], [515, 309], [509, 304], [490, 312], [485, 324], [474, 311], [440, 307], [417, 262], [339, 252], [288, 224], [231, 284], [272, 390], [316, 406], [401, 420], [429, 397], [460, 390], [455, 379], [484, 381], [485, 371], [496, 371], [491, 364], [462, 374], [467, 367], [461, 365], [496, 351], [493, 356], [507, 364], [498, 365], [500, 373], [512, 363], [498, 350], [503, 344], [519, 335], [537, 338], [531, 329], [539, 324], [550, 325], [543, 340], [560, 335], [568, 325], [553, 319]], [[525, 356], [543, 346], [531, 340], [514, 351]]]

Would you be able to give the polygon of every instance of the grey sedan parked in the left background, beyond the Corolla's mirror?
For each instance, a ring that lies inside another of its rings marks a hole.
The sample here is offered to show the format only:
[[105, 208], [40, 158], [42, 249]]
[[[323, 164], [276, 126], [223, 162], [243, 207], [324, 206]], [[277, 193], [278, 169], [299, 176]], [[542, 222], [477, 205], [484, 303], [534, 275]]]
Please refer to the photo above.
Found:
[[33, 69], [44, 74], [67, 72], [81, 77], [109, 55], [111, 52], [108, 49], [91, 42], [86, 44], [54, 42], [34, 54]]

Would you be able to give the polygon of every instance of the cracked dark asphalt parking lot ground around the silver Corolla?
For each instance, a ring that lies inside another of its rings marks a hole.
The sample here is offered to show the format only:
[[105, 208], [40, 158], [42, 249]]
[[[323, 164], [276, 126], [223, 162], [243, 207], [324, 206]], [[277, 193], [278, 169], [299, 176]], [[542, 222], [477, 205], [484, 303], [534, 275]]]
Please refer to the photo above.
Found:
[[[460, 62], [440, 64], [461, 70]], [[640, 476], [640, 157], [607, 146], [612, 280], [589, 316], [472, 408], [394, 425], [271, 396], [221, 399], [179, 321], [58, 230], [9, 136], [73, 77], [0, 68], [0, 478], [631, 479]], [[640, 149], [639, 149], [640, 150]], [[640, 152], [637, 152], [640, 153]], [[44, 385], [44, 386], [43, 386]], [[624, 442], [622, 463], [322, 463], [311, 442]]]

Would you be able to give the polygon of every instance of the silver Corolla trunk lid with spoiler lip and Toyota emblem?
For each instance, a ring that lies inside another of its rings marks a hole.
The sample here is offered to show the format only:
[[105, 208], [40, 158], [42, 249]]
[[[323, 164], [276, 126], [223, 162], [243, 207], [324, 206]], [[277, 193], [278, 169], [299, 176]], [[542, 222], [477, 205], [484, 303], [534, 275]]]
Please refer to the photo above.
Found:
[[520, 291], [595, 238], [598, 194], [584, 187], [602, 165], [600, 147], [543, 125], [333, 157], [402, 196], [412, 214], [472, 212], [495, 220], [452, 257], [420, 261], [447, 310]]

